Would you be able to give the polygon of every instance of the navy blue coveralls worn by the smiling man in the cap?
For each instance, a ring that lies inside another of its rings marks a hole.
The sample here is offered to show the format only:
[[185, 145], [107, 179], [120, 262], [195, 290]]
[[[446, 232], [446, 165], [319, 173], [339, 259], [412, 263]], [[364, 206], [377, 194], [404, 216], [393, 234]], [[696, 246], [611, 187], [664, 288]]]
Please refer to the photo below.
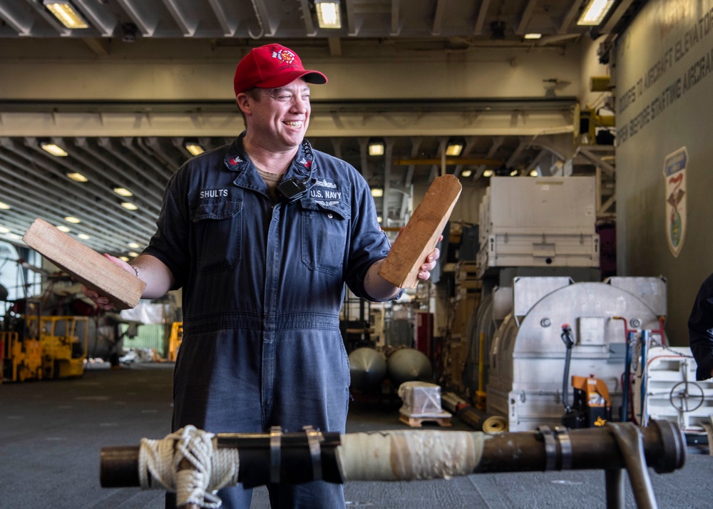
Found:
[[[183, 287], [173, 429], [255, 433], [312, 425], [344, 433], [344, 282], [369, 298], [364, 275], [386, 257], [389, 240], [369, 186], [351, 165], [305, 140], [283, 180], [296, 178], [308, 190], [274, 203], [242, 136], [173, 175], [144, 251]], [[273, 508], [344, 507], [342, 485], [269, 488]], [[252, 490], [218, 495], [225, 508], [247, 508]]]

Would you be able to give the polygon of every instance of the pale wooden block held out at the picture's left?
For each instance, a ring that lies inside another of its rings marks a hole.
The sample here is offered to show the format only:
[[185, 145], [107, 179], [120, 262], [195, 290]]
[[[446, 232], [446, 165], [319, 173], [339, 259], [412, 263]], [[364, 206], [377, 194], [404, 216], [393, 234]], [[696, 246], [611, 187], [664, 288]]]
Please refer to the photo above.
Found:
[[135, 307], [146, 287], [134, 274], [41, 219], [22, 240], [84, 286], [109, 297], [116, 309]]

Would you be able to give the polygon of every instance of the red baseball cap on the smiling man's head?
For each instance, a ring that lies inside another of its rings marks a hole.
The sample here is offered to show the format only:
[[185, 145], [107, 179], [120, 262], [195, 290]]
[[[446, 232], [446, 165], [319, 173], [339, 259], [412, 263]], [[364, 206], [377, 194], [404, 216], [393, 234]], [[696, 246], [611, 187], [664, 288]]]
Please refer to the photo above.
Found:
[[297, 78], [314, 85], [327, 83], [327, 76], [319, 71], [306, 71], [297, 53], [291, 49], [281, 44], [266, 44], [252, 48], [237, 64], [233, 86], [237, 96], [250, 88], [285, 86]]

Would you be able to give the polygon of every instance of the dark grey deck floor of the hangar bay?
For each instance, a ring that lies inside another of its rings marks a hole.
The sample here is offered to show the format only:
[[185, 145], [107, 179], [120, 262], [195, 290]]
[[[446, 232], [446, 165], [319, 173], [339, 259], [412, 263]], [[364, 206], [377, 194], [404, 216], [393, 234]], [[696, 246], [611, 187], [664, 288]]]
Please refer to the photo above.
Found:
[[[105, 489], [99, 451], [170, 432], [172, 364], [90, 367], [81, 379], [0, 385], [0, 508], [163, 508], [163, 492]], [[352, 404], [348, 432], [404, 429], [398, 407]], [[453, 427], [470, 428], [453, 419]], [[713, 507], [713, 457], [689, 453], [679, 471], [651, 472], [660, 508]], [[627, 508], [635, 501], [627, 484]], [[602, 471], [468, 475], [406, 483], [349, 482], [347, 507], [389, 509], [605, 508]], [[257, 488], [252, 509], [267, 509]]]

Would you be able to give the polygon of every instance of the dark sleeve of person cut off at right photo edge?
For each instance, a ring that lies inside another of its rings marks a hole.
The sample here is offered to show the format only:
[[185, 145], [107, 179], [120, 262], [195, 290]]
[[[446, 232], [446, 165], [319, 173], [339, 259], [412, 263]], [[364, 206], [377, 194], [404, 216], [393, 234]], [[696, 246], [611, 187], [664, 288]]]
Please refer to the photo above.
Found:
[[696, 379], [707, 380], [713, 369], [713, 274], [701, 284], [688, 319], [688, 339], [696, 359]]

